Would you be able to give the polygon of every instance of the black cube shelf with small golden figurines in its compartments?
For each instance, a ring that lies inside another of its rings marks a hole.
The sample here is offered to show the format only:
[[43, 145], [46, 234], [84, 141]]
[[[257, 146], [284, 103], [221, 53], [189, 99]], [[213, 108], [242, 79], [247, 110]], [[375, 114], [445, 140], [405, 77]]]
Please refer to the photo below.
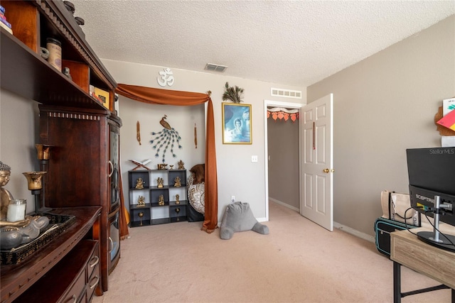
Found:
[[132, 227], [186, 221], [186, 170], [130, 170]]

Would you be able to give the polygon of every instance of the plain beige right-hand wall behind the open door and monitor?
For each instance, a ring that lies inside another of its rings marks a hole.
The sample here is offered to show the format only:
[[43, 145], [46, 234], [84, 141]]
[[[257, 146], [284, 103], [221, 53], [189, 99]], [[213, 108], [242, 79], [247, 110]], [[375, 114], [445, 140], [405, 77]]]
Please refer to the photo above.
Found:
[[307, 89], [334, 94], [334, 221], [373, 235], [383, 189], [408, 192], [406, 148], [441, 145], [434, 114], [455, 96], [455, 16]]

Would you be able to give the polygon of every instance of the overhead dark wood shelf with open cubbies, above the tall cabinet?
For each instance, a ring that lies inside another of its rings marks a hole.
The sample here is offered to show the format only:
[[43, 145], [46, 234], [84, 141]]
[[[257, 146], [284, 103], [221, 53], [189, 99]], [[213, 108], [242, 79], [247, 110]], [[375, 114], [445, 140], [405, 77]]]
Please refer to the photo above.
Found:
[[[90, 48], [63, 1], [4, 0], [1, 5], [14, 28], [14, 35], [1, 28], [2, 88], [42, 104], [106, 109], [100, 101], [90, 97], [91, 84], [111, 94], [108, 101], [113, 111], [117, 82]], [[83, 72], [70, 69], [76, 82], [80, 73], [85, 73], [80, 86], [41, 57], [40, 48], [46, 46], [46, 38], [57, 38], [62, 43], [63, 62], [74, 62], [71, 67], [87, 66]]]

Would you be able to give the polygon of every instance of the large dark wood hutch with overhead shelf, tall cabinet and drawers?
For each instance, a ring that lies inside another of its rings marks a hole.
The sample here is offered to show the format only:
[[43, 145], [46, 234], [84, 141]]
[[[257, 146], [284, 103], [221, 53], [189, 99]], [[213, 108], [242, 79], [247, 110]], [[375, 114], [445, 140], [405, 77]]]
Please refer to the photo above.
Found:
[[[45, 290], [57, 292], [50, 301], [64, 301], [70, 290], [76, 289], [70, 298], [90, 302], [93, 291], [86, 290], [95, 289], [98, 295], [107, 291], [108, 275], [120, 257], [122, 121], [114, 110], [117, 83], [87, 44], [85, 34], [63, 1], [2, 0], [0, 5], [4, 6], [13, 29], [11, 35], [1, 28], [1, 88], [38, 101], [40, 142], [36, 143], [51, 146], [45, 175], [45, 206], [80, 215], [77, 224], [62, 233], [65, 236], [53, 240], [53, 245], [23, 263], [1, 265], [1, 302], [16, 298], [21, 302], [35, 292], [41, 294], [39, 286], [49, 279], [53, 285]], [[47, 38], [60, 41], [62, 67], [70, 68], [71, 78], [41, 56]], [[104, 104], [92, 97], [91, 86], [107, 92]], [[64, 262], [70, 259], [86, 259], [81, 255], [85, 250], [77, 247], [87, 238], [96, 242], [92, 254], [99, 255], [99, 281], [88, 285], [89, 281], [78, 278], [86, 265], [82, 262], [75, 272], [65, 272], [73, 279], [65, 285], [58, 277], [61, 274], [58, 268], [67, 266]], [[81, 283], [83, 289], [75, 288]], [[61, 287], [56, 287], [60, 284]]]

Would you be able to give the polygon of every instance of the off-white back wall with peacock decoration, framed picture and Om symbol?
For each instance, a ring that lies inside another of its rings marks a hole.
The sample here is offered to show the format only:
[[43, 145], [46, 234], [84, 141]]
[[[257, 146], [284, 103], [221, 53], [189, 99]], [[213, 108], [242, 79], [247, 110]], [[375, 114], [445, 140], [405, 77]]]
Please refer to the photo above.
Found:
[[[139, 65], [131, 62], [119, 62], [113, 60], [103, 60], [103, 64], [112, 74], [118, 83], [141, 85], [144, 87], [161, 88], [157, 82], [159, 72], [164, 67], [154, 65]], [[218, 219], [221, 219], [225, 206], [230, 203], [230, 197], [235, 196], [237, 201], [248, 202], [253, 214], [258, 220], [267, 218], [267, 199], [265, 197], [265, 141], [264, 141], [264, 100], [286, 101], [292, 103], [306, 103], [305, 97], [302, 99], [272, 98], [270, 89], [272, 87], [282, 89], [293, 89], [302, 91], [306, 96], [304, 87], [290, 87], [282, 84], [260, 82], [251, 79], [242, 79], [236, 77], [225, 77], [223, 74], [213, 74], [207, 72], [191, 72], [188, 70], [172, 69], [175, 79], [173, 89], [187, 92], [212, 92], [213, 110], [215, 114], [215, 145], [218, 168]], [[222, 134], [222, 96], [225, 83], [237, 85], [245, 89], [244, 104], [252, 104], [252, 144], [251, 145], [232, 145], [223, 144]], [[203, 145], [194, 148], [193, 142], [193, 120], [196, 119], [200, 137], [198, 142], [201, 144], [205, 140], [203, 137], [203, 111], [195, 110], [190, 114], [185, 114], [187, 109], [179, 109], [181, 106], [140, 104], [137, 101], [131, 101], [124, 97], [119, 98], [119, 116], [122, 118], [123, 126], [120, 129], [121, 134], [121, 166], [123, 172], [124, 188], [127, 188], [127, 171], [131, 170], [128, 159], [143, 160], [151, 158], [153, 163], [161, 162], [160, 159], [154, 158], [154, 153], [150, 140], [150, 131], [159, 130], [159, 119], [163, 114], [168, 115], [168, 121], [171, 126], [181, 132], [181, 136], [186, 143], [183, 150], [178, 150], [178, 159], [183, 158], [186, 168], [189, 169], [193, 164], [203, 161], [205, 149]], [[177, 111], [183, 118], [178, 119]], [[188, 116], [193, 116], [187, 119]], [[141, 121], [141, 146], [136, 141], [136, 123]], [[179, 121], [180, 120], [180, 121]], [[251, 162], [251, 156], [257, 155], [258, 162]], [[297, 189], [298, 190], [298, 189]], [[127, 192], [125, 192], [125, 201], [128, 201]]]

